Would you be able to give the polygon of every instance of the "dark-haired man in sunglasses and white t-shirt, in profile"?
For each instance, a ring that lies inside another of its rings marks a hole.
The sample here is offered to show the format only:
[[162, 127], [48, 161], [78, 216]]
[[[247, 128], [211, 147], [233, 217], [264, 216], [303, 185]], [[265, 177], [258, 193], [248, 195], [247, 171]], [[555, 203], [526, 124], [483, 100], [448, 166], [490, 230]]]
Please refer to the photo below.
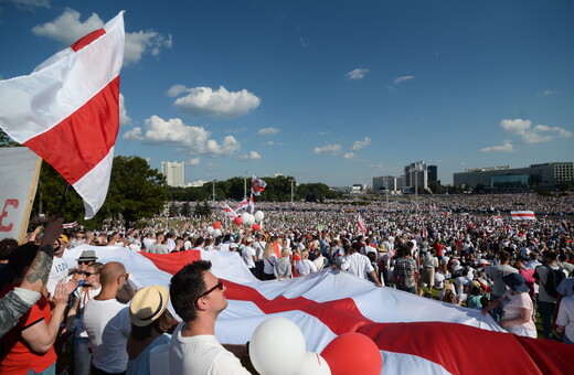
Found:
[[198, 260], [171, 278], [171, 304], [183, 322], [171, 336], [170, 373], [247, 375], [240, 360], [215, 338], [215, 320], [227, 299], [225, 286], [210, 268], [210, 261]]

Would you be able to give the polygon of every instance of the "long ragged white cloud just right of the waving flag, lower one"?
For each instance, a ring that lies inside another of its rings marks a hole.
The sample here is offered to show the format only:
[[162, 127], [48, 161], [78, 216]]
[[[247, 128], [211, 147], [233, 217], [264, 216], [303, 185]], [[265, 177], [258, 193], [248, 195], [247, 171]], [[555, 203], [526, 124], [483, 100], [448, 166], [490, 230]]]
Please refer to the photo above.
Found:
[[179, 118], [163, 120], [158, 116], [151, 116], [145, 125], [145, 131], [136, 127], [124, 135], [124, 138], [138, 139], [147, 143], [173, 144], [178, 147], [178, 151], [210, 157], [233, 154], [240, 149], [240, 142], [233, 136], [226, 136], [219, 143], [209, 138], [210, 131], [202, 127], [188, 126]]

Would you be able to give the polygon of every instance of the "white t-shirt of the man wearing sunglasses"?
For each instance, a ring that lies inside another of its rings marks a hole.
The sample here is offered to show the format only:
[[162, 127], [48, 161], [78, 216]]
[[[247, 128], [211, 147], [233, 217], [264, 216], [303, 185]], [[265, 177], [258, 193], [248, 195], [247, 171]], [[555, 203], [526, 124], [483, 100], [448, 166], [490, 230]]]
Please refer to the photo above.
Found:
[[184, 338], [179, 323], [169, 344], [169, 369], [172, 375], [223, 375], [245, 374], [249, 372], [240, 360], [225, 350], [214, 335]]

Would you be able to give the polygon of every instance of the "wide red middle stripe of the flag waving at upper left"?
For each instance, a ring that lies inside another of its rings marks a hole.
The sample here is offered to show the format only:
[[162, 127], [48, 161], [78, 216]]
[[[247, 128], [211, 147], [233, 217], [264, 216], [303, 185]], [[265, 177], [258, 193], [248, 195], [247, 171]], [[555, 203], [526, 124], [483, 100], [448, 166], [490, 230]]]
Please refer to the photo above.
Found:
[[116, 142], [118, 125], [119, 76], [74, 114], [24, 146], [73, 185], [108, 154]]

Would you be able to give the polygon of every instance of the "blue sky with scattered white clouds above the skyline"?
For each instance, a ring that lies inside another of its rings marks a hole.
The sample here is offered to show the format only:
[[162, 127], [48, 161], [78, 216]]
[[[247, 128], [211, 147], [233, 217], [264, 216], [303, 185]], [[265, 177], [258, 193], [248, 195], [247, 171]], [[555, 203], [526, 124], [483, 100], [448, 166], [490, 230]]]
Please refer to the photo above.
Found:
[[574, 2], [0, 1], [0, 77], [126, 10], [117, 154], [188, 182], [574, 159]]

